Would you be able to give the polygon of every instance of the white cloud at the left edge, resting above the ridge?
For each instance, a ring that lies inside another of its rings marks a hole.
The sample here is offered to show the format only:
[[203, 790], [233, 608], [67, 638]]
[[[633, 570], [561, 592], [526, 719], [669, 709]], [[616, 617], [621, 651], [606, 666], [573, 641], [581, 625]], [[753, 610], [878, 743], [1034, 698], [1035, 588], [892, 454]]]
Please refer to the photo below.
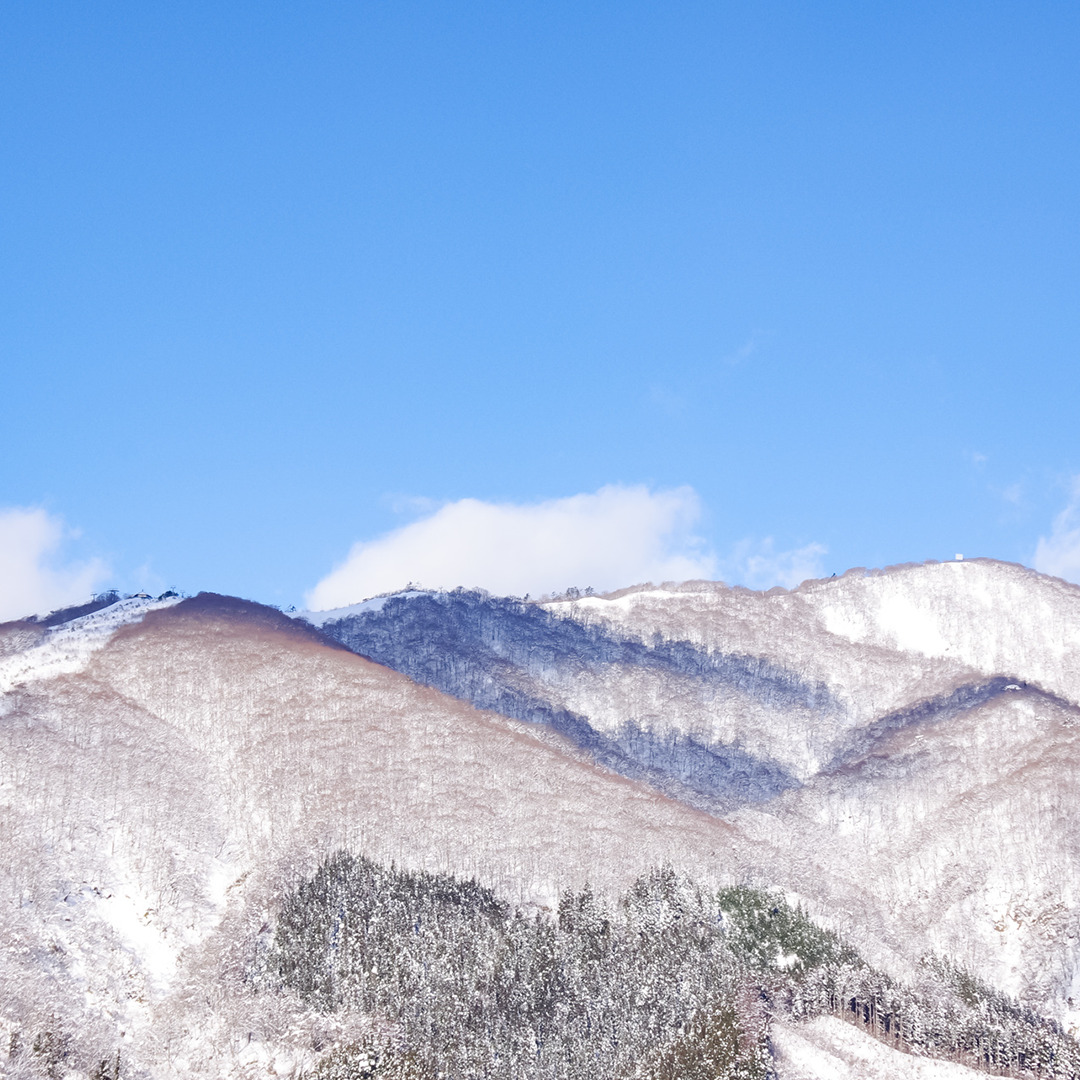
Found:
[[64, 525], [41, 509], [0, 510], [0, 621], [45, 615], [89, 599], [105, 565], [56, 565]]

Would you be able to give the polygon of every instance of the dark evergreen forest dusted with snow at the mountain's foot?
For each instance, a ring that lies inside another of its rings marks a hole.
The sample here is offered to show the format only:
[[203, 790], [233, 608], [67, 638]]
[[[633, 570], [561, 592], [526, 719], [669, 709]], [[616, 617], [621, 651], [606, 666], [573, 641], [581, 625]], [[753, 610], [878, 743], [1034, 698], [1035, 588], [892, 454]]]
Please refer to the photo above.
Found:
[[1056, 1024], [955, 966], [927, 957], [901, 984], [778, 893], [671, 869], [613, 905], [585, 888], [524, 912], [342, 852], [285, 899], [252, 977], [382, 1022], [312, 1080], [767, 1080], [780, 1014], [995, 1075], [1080, 1076]]

